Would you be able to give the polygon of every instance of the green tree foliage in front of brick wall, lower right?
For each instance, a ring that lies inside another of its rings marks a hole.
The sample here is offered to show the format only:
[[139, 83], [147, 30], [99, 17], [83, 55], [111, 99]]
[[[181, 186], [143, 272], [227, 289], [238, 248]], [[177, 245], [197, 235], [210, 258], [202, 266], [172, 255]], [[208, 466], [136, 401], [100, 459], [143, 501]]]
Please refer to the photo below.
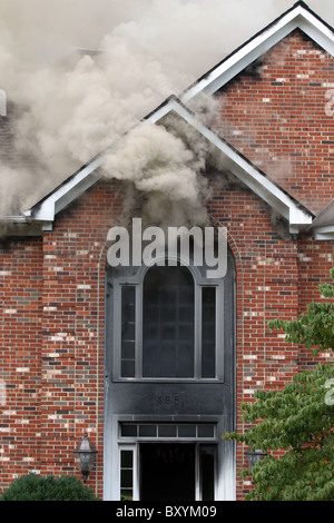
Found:
[[[331, 276], [333, 279], [333, 269]], [[323, 297], [334, 297], [333, 284], [318, 288]], [[333, 303], [313, 303], [299, 319], [276, 319], [269, 327], [283, 329], [287, 342], [304, 343], [317, 354], [334, 349], [333, 319]], [[252, 451], [268, 452], [252, 468], [255, 484], [247, 500], [334, 501], [333, 364], [317, 364], [313, 371], [294, 376], [284, 389], [258, 391], [254, 398], [240, 407], [250, 428], [245, 434], [223, 436], [244, 442]], [[273, 455], [277, 450], [284, 451], [281, 457]]]

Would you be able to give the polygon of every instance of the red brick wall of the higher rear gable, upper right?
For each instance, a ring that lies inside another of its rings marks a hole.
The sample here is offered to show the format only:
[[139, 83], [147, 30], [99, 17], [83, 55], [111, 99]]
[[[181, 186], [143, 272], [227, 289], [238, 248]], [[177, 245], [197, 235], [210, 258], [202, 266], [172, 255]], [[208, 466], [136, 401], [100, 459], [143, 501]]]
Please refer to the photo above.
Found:
[[218, 132], [317, 214], [334, 193], [334, 60], [295, 30], [216, 95]]

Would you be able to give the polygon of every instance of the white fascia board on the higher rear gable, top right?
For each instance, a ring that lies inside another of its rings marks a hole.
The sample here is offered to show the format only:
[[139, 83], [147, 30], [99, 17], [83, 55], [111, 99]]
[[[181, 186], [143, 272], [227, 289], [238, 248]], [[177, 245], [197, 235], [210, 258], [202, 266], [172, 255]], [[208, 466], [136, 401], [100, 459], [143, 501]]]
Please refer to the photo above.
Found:
[[332, 56], [334, 55], [333, 31], [305, 8], [298, 6], [183, 92], [180, 100], [187, 102], [200, 92], [213, 95], [297, 28]]

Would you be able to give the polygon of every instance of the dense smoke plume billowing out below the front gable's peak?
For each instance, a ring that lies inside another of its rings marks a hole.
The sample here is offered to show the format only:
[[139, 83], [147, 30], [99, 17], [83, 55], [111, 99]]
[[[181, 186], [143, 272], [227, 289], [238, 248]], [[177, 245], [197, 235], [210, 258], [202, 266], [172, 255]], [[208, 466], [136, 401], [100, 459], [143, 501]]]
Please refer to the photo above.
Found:
[[187, 131], [181, 138], [175, 129], [140, 122], [116, 152], [106, 155], [106, 176], [128, 180], [145, 195], [141, 213], [147, 225], [207, 225], [207, 187], [200, 177], [207, 148], [198, 137], [196, 147], [188, 147]]

